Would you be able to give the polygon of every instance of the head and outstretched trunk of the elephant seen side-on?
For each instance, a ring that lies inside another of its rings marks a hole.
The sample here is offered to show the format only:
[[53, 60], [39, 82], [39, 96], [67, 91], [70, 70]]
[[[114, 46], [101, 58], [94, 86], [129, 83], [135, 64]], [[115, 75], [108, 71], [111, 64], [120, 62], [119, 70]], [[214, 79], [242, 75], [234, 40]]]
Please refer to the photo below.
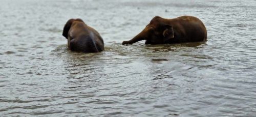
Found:
[[146, 40], [145, 44], [164, 44], [174, 38], [172, 25], [159, 16], [154, 17], [144, 30], [130, 41], [123, 41], [125, 44], [133, 44], [141, 40]]

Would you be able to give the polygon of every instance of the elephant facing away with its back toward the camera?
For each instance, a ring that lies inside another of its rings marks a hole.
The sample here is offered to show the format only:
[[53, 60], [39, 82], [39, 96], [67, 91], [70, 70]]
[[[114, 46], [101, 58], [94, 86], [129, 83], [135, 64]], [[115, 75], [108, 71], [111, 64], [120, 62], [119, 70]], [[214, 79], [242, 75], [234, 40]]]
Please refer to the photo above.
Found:
[[79, 18], [67, 21], [62, 36], [68, 39], [68, 48], [72, 51], [92, 53], [104, 50], [100, 34]]

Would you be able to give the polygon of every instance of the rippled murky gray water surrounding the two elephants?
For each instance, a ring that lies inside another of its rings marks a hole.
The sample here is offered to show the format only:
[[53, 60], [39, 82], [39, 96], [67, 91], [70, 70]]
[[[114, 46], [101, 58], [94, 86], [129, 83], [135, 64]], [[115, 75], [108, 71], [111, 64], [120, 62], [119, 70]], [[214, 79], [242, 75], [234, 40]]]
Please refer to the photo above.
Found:
[[[256, 1], [0, 1], [1, 116], [256, 116]], [[121, 45], [154, 16], [192, 15], [208, 41]], [[61, 36], [81, 18], [105, 51]]]

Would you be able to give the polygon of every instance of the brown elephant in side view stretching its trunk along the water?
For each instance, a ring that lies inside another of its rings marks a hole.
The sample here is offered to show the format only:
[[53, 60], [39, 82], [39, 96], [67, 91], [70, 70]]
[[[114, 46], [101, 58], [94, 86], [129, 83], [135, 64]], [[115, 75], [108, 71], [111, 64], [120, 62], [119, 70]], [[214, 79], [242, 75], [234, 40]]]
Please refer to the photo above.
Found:
[[203, 22], [193, 16], [174, 19], [154, 17], [144, 30], [125, 44], [146, 40], [145, 44], [173, 44], [207, 41], [207, 31]]

